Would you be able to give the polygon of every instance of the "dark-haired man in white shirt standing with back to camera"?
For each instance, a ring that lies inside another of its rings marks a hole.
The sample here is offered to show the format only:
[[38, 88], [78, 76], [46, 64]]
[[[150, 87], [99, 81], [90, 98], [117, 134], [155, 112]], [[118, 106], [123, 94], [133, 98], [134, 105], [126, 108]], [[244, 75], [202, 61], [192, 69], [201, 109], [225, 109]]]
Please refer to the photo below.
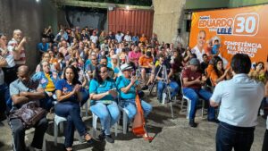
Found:
[[264, 84], [250, 79], [248, 55], [237, 54], [231, 59], [232, 80], [217, 84], [210, 105], [220, 105], [217, 151], [249, 151], [254, 140], [257, 114], [264, 98]]

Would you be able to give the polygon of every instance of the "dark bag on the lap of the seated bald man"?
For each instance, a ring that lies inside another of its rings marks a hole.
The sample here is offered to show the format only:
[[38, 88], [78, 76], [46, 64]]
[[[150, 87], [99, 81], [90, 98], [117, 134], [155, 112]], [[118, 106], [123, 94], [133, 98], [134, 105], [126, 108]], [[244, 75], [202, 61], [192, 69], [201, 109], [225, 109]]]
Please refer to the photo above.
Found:
[[36, 102], [29, 102], [20, 109], [10, 113], [9, 119], [21, 119], [24, 128], [32, 128], [37, 122], [46, 116], [46, 110], [39, 107]]

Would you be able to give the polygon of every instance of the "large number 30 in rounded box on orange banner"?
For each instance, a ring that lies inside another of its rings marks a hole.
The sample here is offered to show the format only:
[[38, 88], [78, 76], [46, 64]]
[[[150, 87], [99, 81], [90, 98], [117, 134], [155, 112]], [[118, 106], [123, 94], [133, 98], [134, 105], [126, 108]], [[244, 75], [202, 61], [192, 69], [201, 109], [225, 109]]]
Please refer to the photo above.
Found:
[[257, 13], [240, 13], [233, 22], [233, 35], [255, 36], [259, 27], [259, 15]]

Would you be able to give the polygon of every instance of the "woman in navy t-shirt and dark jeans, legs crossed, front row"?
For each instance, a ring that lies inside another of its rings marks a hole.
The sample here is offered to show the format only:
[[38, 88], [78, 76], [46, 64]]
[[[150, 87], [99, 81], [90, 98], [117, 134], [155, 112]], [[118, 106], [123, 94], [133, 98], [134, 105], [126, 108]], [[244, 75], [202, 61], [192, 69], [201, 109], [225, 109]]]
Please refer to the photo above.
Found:
[[67, 118], [64, 129], [65, 148], [72, 150], [74, 130], [78, 130], [89, 145], [93, 138], [88, 134], [87, 128], [80, 117], [80, 101], [82, 100], [79, 74], [74, 66], [68, 66], [63, 71], [63, 80], [58, 80], [55, 86], [58, 104], [55, 105], [55, 114]]

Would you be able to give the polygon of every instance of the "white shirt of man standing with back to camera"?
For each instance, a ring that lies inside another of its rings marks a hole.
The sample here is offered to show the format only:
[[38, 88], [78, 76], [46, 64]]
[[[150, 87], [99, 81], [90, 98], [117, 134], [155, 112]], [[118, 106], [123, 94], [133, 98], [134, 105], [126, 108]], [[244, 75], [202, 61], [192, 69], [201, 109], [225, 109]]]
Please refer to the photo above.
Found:
[[211, 101], [221, 103], [219, 121], [233, 126], [254, 127], [264, 98], [264, 84], [250, 79], [247, 74], [236, 74], [233, 79], [216, 85]]

